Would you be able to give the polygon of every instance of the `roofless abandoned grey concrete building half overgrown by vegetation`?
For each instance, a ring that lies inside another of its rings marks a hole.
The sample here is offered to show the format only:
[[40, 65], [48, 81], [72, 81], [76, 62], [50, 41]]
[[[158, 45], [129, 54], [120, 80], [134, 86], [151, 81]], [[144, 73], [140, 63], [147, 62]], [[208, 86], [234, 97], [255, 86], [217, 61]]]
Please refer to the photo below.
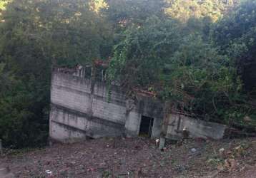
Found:
[[[137, 90], [138, 100], [126, 97], [117, 84], [111, 95], [104, 81], [104, 68], [92, 79], [90, 66], [54, 68], [51, 77], [50, 137], [74, 142], [86, 137], [159, 137], [163, 124], [163, 105], [151, 93]], [[225, 126], [169, 115], [167, 138], [181, 137], [186, 127], [191, 137], [220, 139]]]

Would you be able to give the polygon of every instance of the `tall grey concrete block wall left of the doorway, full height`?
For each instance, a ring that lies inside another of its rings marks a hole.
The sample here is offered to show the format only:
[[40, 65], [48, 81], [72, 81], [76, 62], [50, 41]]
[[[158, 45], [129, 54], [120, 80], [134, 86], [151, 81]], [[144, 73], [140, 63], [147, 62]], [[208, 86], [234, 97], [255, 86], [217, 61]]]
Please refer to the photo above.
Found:
[[[125, 104], [107, 102], [107, 89], [79, 76], [53, 71], [51, 78], [50, 137], [61, 142], [124, 134]], [[122, 94], [112, 93], [125, 103]], [[122, 116], [122, 117], [120, 117]]]

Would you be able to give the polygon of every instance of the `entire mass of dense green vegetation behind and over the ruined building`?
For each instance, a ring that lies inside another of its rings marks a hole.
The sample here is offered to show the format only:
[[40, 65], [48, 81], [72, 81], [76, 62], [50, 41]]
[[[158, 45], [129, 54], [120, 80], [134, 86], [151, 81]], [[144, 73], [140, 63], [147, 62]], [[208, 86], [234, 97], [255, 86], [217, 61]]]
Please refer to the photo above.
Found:
[[109, 80], [130, 91], [204, 120], [256, 121], [255, 0], [1, 0], [0, 9], [5, 146], [44, 145], [51, 66], [109, 57]]

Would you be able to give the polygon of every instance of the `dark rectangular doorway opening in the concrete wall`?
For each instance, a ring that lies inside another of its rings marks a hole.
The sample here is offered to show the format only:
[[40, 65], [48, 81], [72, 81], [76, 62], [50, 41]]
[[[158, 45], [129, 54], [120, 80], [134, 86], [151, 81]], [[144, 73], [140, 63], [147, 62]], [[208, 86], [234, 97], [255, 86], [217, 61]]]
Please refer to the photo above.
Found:
[[154, 118], [142, 115], [142, 121], [139, 127], [139, 136], [151, 137], [153, 129]]

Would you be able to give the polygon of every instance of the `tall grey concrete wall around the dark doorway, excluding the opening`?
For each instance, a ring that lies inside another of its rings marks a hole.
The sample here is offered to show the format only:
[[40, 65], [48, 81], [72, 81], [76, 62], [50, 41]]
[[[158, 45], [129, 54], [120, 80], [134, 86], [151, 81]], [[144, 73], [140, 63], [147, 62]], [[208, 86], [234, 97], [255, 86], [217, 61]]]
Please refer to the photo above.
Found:
[[[83, 76], [53, 70], [51, 78], [50, 137], [62, 142], [85, 137], [139, 134], [142, 115], [154, 117], [152, 137], [159, 137], [162, 105], [147, 97], [127, 100], [116, 85], [92, 83]], [[132, 106], [132, 107], [131, 107]]]

